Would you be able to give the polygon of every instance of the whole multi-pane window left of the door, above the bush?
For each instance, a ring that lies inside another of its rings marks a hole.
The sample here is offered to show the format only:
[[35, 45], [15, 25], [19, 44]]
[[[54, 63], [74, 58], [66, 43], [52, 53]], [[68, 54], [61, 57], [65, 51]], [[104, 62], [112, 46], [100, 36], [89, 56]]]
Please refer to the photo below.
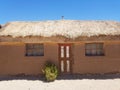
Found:
[[44, 56], [44, 45], [26, 44], [26, 56]]

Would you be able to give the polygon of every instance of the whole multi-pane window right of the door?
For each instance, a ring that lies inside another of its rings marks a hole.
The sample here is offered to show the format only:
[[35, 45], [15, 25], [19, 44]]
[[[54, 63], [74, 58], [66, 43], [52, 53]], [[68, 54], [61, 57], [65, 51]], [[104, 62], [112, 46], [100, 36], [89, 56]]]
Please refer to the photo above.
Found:
[[85, 45], [86, 56], [103, 56], [103, 43], [87, 43]]

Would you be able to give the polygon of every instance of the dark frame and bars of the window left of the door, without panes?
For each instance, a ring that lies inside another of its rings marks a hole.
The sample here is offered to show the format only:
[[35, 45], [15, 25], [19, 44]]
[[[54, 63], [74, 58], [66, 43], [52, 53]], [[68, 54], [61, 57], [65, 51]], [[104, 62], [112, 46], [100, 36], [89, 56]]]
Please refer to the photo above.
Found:
[[[32, 48], [30, 48], [28, 45], [31, 45]], [[41, 48], [42, 45], [42, 54], [40, 55], [41, 51], [38, 51], [39, 52], [39, 55], [35, 55], [35, 53], [38, 53], [37, 50]], [[39, 47], [36, 47], [36, 46], [39, 46]], [[28, 55], [28, 50], [31, 50], [32, 51], [32, 54], [31, 55]], [[43, 43], [26, 43], [25, 44], [25, 56], [27, 57], [43, 57], [44, 56], [44, 44]]]

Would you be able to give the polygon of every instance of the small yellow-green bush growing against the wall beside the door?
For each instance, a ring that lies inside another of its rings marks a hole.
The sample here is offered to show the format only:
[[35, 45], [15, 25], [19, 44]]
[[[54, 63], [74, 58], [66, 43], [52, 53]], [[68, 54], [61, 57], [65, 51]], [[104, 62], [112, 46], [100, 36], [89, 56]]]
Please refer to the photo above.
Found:
[[48, 82], [54, 81], [58, 76], [58, 69], [55, 64], [47, 63], [43, 70], [45, 78]]

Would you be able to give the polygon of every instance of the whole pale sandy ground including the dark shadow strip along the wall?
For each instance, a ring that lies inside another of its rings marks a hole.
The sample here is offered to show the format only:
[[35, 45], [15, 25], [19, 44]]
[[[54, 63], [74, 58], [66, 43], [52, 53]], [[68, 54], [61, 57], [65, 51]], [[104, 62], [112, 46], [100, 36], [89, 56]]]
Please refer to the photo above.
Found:
[[120, 74], [65, 76], [49, 83], [39, 77], [0, 77], [0, 90], [120, 90]]

